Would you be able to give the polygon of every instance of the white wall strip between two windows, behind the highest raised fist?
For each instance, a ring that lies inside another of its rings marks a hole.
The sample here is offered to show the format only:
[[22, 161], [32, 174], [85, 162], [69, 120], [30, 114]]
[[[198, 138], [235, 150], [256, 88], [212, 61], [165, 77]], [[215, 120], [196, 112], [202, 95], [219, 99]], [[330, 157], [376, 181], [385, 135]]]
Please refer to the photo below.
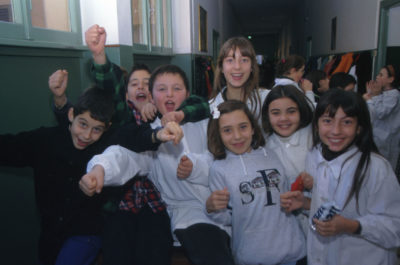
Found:
[[130, 0], [81, 0], [83, 43], [85, 31], [98, 24], [107, 31], [107, 45], [132, 45]]

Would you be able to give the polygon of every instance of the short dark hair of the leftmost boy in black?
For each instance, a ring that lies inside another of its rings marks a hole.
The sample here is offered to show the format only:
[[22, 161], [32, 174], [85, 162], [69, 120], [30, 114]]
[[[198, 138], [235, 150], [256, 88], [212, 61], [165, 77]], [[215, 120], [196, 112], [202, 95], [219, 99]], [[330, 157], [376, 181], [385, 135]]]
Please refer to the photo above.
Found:
[[74, 117], [89, 111], [90, 117], [109, 127], [114, 114], [113, 94], [97, 86], [90, 87], [79, 96], [73, 109]]

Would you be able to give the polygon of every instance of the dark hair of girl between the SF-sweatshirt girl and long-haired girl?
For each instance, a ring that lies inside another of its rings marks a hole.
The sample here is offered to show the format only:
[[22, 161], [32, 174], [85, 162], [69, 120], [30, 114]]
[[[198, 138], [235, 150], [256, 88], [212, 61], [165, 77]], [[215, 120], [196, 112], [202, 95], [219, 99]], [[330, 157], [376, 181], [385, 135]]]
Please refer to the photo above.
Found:
[[311, 106], [313, 103], [295, 86], [279, 85], [272, 88], [268, 93], [261, 110], [262, 126], [266, 134], [272, 134], [274, 132], [271, 122], [269, 121], [269, 105], [272, 101], [280, 98], [290, 98], [297, 104], [300, 112], [300, 124], [298, 129], [304, 128], [312, 122], [313, 108]]

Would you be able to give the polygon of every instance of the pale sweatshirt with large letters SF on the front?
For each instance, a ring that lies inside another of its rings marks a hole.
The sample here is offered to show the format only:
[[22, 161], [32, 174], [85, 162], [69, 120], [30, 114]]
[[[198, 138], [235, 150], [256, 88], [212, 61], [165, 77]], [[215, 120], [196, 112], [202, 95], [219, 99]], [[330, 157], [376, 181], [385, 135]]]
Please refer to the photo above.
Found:
[[287, 179], [278, 157], [269, 149], [214, 161], [210, 188], [230, 193], [228, 209], [210, 214], [221, 224], [232, 224], [232, 251], [236, 264], [281, 264], [306, 254], [305, 238], [292, 214], [280, 207]]

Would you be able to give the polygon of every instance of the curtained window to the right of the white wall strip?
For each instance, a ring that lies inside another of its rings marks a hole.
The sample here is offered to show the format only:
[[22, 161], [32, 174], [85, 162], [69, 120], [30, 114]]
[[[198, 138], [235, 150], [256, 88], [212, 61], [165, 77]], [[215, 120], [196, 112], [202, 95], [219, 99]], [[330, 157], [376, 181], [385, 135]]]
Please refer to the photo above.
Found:
[[133, 43], [136, 50], [170, 53], [170, 0], [132, 0]]

